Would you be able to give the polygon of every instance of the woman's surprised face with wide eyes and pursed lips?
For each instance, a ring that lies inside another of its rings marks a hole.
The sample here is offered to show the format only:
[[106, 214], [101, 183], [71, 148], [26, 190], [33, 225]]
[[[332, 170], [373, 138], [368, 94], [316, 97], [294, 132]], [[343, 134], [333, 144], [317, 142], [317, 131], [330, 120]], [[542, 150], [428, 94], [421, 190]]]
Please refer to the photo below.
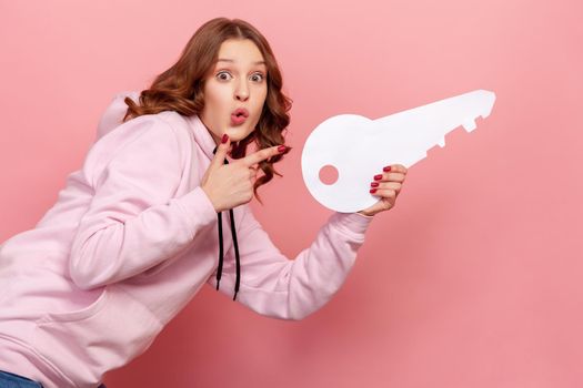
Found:
[[268, 94], [268, 70], [255, 43], [225, 40], [203, 93], [204, 108], [199, 116], [217, 144], [224, 133], [237, 142], [253, 132]]

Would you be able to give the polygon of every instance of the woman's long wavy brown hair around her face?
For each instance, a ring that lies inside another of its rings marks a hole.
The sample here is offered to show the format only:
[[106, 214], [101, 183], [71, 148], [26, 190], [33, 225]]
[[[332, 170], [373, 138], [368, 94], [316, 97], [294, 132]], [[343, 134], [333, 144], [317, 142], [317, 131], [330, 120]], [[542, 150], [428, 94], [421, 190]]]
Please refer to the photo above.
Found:
[[[178, 62], [158, 75], [151, 86], [141, 92], [138, 103], [125, 98], [128, 111], [123, 121], [163, 111], [175, 111], [187, 116], [202, 112], [204, 79], [217, 63], [221, 43], [228, 39], [253, 41], [262, 53], [268, 69], [268, 94], [261, 118], [253, 132], [231, 144], [231, 156], [233, 159], [245, 156], [247, 146], [253, 141], [258, 150], [284, 144], [283, 131], [290, 123], [288, 112], [292, 100], [282, 92], [282, 75], [267, 39], [253, 25], [240, 19], [215, 18], [202, 24], [187, 43]], [[283, 154], [278, 154], [259, 163], [263, 175], [255, 181], [253, 193], [260, 203], [261, 198], [257, 191], [259, 186], [271, 181], [273, 174], [282, 176], [273, 167], [273, 164], [282, 157]]]

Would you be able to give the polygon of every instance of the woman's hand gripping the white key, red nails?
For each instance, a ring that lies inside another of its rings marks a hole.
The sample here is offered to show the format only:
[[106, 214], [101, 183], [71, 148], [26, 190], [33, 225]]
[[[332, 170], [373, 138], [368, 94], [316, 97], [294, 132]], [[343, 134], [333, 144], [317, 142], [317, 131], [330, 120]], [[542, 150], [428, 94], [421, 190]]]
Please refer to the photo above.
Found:
[[382, 173], [373, 177], [370, 188], [371, 194], [379, 196], [381, 200], [359, 213], [372, 216], [393, 208], [403, 182], [405, 182], [405, 175], [406, 169], [401, 164], [391, 164], [384, 167]]

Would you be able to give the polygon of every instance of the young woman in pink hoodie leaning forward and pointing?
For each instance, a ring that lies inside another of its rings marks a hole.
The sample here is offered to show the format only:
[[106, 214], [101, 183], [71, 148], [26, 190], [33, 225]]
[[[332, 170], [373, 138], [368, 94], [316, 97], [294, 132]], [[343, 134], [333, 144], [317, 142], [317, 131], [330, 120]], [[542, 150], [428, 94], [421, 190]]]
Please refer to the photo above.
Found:
[[379, 202], [332, 214], [288, 259], [248, 205], [289, 151], [281, 88], [263, 35], [220, 18], [150, 89], [113, 101], [54, 206], [0, 246], [0, 387], [99, 386], [205, 283], [281, 319], [331, 299], [406, 170], [371, 176]]

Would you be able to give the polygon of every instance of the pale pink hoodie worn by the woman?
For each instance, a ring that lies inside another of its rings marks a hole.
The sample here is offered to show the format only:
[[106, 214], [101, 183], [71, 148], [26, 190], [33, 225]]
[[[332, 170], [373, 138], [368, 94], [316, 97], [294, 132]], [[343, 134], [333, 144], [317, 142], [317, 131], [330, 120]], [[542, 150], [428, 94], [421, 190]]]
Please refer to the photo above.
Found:
[[[48, 388], [98, 386], [142, 354], [203, 284], [217, 284], [217, 212], [200, 187], [214, 141], [198, 116], [170, 111], [119, 125], [123, 96], [105, 111], [57, 203], [33, 229], [0, 245], [0, 370]], [[290, 261], [249, 205], [233, 211], [237, 300], [281, 319], [302, 319], [331, 299], [373, 218], [332, 214]], [[232, 297], [227, 214], [221, 292]]]

